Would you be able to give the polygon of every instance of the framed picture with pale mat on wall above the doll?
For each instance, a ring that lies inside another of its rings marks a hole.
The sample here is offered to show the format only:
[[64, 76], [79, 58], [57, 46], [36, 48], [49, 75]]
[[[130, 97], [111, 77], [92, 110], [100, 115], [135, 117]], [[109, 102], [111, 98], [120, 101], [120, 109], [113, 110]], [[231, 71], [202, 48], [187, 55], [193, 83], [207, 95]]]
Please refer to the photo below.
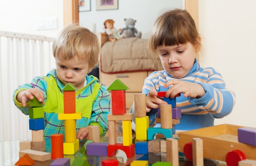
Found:
[[118, 9], [118, 0], [96, 0], [96, 10]]

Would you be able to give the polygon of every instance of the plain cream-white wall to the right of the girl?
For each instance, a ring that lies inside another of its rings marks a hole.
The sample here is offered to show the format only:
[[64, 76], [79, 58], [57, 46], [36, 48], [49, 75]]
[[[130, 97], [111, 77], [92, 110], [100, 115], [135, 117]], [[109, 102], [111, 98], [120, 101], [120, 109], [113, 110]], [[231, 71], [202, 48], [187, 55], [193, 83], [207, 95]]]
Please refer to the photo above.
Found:
[[202, 66], [222, 74], [236, 94], [233, 112], [216, 124], [256, 127], [256, 1], [199, 0], [199, 32], [205, 55]]

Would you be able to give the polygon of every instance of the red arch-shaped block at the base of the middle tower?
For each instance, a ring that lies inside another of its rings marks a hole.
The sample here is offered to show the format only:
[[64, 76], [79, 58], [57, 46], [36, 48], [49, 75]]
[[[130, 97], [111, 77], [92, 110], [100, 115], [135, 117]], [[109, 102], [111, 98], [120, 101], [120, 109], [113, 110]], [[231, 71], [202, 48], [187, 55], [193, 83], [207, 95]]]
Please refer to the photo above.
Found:
[[135, 146], [131, 144], [129, 146], [124, 146], [123, 144], [115, 144], [115, 145], [108, 145], [108, 157], [112, 157], [116, 155], [117, 150], [120, 149], [126, 153], [128, 158], [131, 158], [135, 155]]

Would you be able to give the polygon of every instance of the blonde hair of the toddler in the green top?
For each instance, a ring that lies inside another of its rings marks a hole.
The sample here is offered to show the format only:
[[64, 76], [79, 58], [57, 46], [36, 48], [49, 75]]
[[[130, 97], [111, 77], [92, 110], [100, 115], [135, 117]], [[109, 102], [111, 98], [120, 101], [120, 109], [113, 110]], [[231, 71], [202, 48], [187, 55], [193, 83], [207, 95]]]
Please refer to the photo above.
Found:
[[99, 61], [100, 45], [97, 35], [76, 24], [65, 26], [55, 38], [52, 48], [55, 59], [88, 60], [89, 72]]

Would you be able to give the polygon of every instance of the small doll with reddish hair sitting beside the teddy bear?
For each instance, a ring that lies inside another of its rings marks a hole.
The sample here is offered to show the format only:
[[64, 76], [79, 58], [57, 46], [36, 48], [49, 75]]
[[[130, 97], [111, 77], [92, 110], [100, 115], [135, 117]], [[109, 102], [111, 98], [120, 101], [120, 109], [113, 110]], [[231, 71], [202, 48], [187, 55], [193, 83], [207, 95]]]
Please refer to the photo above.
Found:
[[109, 19], [104, 22], [105, 31], [108, 35], [108, 41], [115, 42], [120, 38], [124, 38], [124, 36], [119, 36], [118, 31], [114, 28], [114, 20]]

